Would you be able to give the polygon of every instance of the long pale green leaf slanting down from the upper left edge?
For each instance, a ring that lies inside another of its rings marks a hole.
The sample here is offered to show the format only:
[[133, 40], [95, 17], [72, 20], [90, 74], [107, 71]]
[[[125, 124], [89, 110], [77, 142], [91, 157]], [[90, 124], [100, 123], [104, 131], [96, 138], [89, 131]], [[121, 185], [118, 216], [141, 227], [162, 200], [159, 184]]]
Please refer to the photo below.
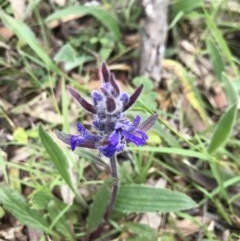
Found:
[[24, 22], [12, 18], [2, 10], [0, 10], [0, 19], [2, 19], [3, 24], [6, 27], [11, 29], [17, 35], [19, 40], [30, 46], [30, 48], [42, 59], [49, 69], [55, 68], [52, 60], [41, 47], [32, 30]]

